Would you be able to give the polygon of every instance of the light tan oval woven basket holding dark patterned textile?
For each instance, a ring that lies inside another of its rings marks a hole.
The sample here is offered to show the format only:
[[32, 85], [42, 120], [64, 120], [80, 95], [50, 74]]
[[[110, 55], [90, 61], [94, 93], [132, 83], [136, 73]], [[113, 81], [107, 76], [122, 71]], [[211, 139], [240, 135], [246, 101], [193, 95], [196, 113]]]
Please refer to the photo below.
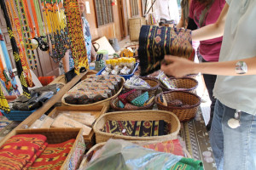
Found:
[[[159, 121], [171, 123], [171, 129], [169, 134], [162, 136], [150, 136], [150, 137], [137, 137], [137, 136], [124, 136], [113, 133], [102, 132], [107, 121]], [[96, 143], [106, 142], [108, 139], [125, 139], [125, 140], [158, 140], [166, 141], [177, 139], [177, 133], [180, 130], [180, 122], [177, 116], [170, 111], [118, 111], [109, 112], [100, 116], [94, 126], [93, 130], [96, 133]]]

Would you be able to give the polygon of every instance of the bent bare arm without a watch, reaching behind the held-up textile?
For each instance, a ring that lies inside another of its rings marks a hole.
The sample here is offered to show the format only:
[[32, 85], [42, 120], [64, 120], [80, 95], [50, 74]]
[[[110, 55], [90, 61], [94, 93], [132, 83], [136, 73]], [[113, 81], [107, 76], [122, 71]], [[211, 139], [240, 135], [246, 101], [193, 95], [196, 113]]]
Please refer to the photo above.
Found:
[[218, 20], [214, 24], [204, 26], [198, 30], [192, 31], [193, 41], [203, 41], [216, 37], [222, 37], [224, 33], [224, 25], [228, 10], [229, 5], [228, 3], [226, 3], [220, 15], [218, 16]]

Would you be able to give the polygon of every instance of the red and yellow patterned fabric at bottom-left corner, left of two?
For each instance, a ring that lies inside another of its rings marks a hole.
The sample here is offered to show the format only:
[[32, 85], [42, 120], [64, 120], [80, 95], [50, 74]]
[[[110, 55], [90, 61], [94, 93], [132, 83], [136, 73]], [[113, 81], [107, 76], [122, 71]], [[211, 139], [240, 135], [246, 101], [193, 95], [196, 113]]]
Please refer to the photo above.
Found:
[[0, 148], [0, 169], [26, 169], [26, 164], [32, 164], [34, 155], [40, 152], [45, 141], [46, 137], [41, 134], [18, 134], [11, 137]]

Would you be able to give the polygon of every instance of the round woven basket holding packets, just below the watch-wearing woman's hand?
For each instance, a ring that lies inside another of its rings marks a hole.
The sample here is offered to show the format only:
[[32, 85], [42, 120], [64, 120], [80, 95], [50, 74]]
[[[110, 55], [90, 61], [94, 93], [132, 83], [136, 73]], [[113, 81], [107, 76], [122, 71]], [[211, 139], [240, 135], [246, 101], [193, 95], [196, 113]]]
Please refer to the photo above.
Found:
[[164, 92], [175, 90], [175, 91], [191, 92], [195, 94], [196, 88], [198, 86], [197, 80], [189, 77], [170, 78], [170, 82], [177, 88], [172, 88], [172, 89], [166, 88], [166, 86], [162, 82], [160, 83], [160, 88], [162, 88]]

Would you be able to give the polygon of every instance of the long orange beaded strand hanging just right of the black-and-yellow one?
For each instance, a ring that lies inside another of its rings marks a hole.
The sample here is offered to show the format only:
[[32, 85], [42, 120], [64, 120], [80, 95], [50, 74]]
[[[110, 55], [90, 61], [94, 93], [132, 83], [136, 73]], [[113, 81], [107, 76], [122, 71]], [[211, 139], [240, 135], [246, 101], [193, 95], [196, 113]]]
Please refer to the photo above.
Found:
[[[31, 72], [29, 70], [29, 65], [27, 63], [26, 60], [26, 46], [23, 42], [23, 34], [22, 34], [22, 30], [21, 30], [21, 26], [20, 26], [20, 20], [15, 12], [15, 4], [13, 3], [13, 1], [10, 1], [11, 3], [11, 7], [9, 6], [9, 2], [7, 1], [6, 4], [8, 6], [8, 14], [10, 16], [10, 21], [11, 21], [11, 26], [13, 26], [14, 28], [14, 37], [15, 37], [15, 42], [18, 46], [18, 48], [20, 49], [20, 60], [21, 60], [21, 65], [22, 68], [26, 74], [26, 79], [27, 82], [29, 82], [29, 86], [32, 87], [32, 75]], [[12, 14], [14, 14], [14, 17], [12, 16]]]

